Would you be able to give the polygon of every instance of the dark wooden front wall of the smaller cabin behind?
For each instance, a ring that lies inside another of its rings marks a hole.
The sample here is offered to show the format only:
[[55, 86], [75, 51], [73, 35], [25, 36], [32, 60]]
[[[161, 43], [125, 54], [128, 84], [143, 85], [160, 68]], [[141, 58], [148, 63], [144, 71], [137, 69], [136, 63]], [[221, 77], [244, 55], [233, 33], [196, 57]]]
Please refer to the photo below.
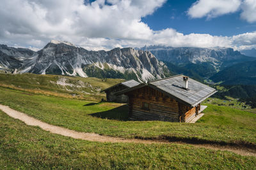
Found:
[[124, 87], [123, 85], [118, 85], [106, 91], [107, 101], [116, 103], [128, 103], [129, 99], [128, 96], [126, 96], [125, 94], [121, 94], [118, 96], [115, 95], [115, 92], [119, 92], [124, 89], [127, 89], [127, 87]]

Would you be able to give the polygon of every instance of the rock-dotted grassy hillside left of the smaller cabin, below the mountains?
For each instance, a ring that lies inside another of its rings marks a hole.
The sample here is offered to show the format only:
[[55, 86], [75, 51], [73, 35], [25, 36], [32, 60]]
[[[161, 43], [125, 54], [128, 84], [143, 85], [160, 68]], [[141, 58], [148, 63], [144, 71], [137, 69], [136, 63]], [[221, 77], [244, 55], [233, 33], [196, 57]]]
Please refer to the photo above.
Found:
[[[0, 73], [0, 87], [33, 92], [35, 94], [49, 94], [53, 96], [87, 98], [100, 101], [104, 98], [104, 93], [100, 90], [106, 89], [122, 79], [100, 79], [82, 78], [61, 75], [38, 75], [38, 74], [3, 74]], [[61, 85], [58, 82], [65, 82]]]

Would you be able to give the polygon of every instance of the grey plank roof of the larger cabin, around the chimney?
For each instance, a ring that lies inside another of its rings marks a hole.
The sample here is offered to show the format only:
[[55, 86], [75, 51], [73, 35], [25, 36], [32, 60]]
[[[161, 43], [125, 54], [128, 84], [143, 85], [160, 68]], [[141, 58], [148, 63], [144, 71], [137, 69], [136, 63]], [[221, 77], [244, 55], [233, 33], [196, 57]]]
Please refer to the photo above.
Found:
[[188, 90], [184, 89], [184, 80], [182, 74], [169, 78], [163, 78], [161, 80], [149, 81], [145, 85], [138, 85], [131, 89], [122, 90], [122, 92], [124, 93], [131, 90], [140, 89], [141, 87], [147, 85], [152, 87], [152, 89], [159, 90], [164, 94], [177, 99], [177, 101], [193, 107], [217, 92], [216, 89], [193, 80], [192, 78], [188, 79]]

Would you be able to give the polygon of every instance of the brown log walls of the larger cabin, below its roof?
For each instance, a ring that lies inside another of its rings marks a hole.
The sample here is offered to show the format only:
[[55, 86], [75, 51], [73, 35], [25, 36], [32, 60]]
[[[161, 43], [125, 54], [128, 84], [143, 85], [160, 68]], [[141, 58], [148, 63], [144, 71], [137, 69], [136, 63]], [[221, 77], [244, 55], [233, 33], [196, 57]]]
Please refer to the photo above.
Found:
[[[190, 108], [150, 87], [128, 92], [127, 96], [131, 120], [186, 122], [196, 113], [196, 107]], [[149, 104], [148, 110], [143, 108], [143, 103]]]

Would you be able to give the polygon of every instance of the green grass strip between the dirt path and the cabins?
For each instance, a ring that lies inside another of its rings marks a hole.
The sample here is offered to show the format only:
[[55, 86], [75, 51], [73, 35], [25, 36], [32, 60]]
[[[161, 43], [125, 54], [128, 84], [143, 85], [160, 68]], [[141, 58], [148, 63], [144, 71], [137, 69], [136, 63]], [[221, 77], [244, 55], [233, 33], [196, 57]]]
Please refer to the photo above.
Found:
[[0, 103], [53, 125], [123, 138], [180, 138], [256, 144], [256, 115], [207, 104], [196, 124], [127, 121], [127, 106], [61, 97], [28, 95], [0, 88]]

